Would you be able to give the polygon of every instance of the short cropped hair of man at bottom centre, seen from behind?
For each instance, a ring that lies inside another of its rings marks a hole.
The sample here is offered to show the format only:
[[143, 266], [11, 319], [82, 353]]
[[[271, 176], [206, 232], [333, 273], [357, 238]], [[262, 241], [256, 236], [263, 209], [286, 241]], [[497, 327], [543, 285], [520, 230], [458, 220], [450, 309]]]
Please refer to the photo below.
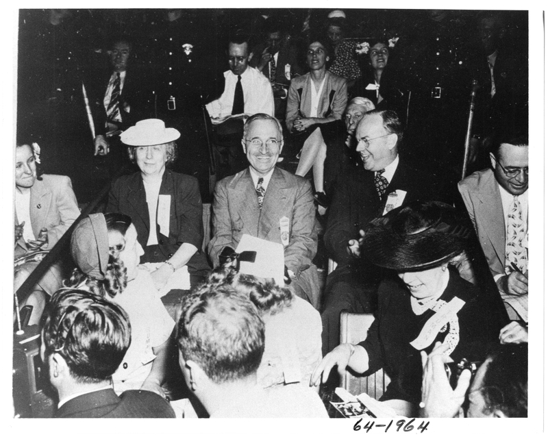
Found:
[[256, 373], [264, 352], [264, 322], [234, 288], [204, 285], [182, 299], [177, 343], [216, 384]]

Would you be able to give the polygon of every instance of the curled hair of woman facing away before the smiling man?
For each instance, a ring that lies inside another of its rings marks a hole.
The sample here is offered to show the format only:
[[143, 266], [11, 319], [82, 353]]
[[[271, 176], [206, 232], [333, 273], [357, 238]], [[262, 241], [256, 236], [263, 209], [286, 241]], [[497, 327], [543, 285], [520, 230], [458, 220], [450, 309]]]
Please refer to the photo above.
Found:
[[229, 284], [234, 290], [249, 296], [261, 314], [277, 314], [289, 308], [293, 293], [287, 287], [280, 287], [273, 281], [262, 282], [256, 276], [238, 273], [232, 266], [219, 266], [208, 277], [208, 284]]

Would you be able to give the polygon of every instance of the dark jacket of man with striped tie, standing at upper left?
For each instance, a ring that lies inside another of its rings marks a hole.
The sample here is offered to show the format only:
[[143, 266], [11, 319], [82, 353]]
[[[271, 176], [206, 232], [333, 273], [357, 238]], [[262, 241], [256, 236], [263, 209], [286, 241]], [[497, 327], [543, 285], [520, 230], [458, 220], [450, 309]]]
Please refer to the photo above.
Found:
[[[103, 99], [111, 76], [112, 71], [104, 71], [94, 79], [88, 80], [86, 84], [96, 136], [105, 135], [107, 112]], [[149, 97], [146, 80], [142, 77], [142, 74], [135, 71], [135, 69], [128, 69], [125, 73], [124, 86], [120, 94], [120, 114], [122, 117], [120, 129], [125, 130], [138, 121], [151, 117]], [[123, 109], [125, 105], [129, 105], [129, 112]]]

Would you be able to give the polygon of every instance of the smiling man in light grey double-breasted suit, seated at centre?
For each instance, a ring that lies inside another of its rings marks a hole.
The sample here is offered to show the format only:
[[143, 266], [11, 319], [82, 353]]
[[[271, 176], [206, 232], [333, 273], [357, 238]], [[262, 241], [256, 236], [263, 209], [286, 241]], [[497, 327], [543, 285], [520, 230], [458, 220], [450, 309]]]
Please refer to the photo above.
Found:
[[242, 147], [249, 167], [216, 185], [214, 236], [209, 254], [214, 265], [225, 247], [236, 249], [249, 234], [284, 245], [287, 277], [295, 294], [319, 308], [319, 282], [312, 259], [318, 236], [310, 182], [276, 167], [284, 146], [276, 118], [255, 114], [244, 126]]

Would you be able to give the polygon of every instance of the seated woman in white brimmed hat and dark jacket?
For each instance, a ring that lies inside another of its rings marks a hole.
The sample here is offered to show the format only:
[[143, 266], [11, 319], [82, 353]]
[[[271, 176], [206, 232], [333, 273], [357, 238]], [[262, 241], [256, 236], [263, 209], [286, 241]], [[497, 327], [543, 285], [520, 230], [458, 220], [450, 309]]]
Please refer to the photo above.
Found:
[[188, 290], [208, 273], [201, 251], [202, 205], [195, 177], [166, 168], [175, 161], [177, 129], [150, 118], [121, 134], [129, 159], [139, 170], [119, 177], [110, 189], [107, 212], [132, 218], [154, 284], [164, 295], [171, 289]]

